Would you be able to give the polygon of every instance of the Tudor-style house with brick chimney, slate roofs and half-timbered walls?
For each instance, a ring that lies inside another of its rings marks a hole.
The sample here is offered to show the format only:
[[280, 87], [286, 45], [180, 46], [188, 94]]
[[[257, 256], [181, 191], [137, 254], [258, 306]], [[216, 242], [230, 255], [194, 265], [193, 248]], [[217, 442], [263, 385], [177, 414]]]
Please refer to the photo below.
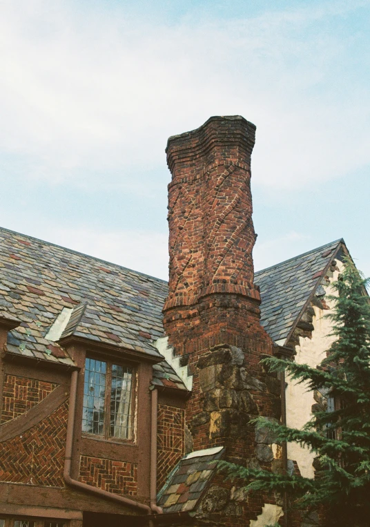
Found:
[[259, 527], [282, 505], [225, 483], [218, 459], [313, 475], [249, 421], [303, 424], [318, 403], [260, 359], [320, 362], [348, 251], [254, 274], [254, 134], [211, 117], [168, 140], [169, 284], [0, 229], [0, 527]]

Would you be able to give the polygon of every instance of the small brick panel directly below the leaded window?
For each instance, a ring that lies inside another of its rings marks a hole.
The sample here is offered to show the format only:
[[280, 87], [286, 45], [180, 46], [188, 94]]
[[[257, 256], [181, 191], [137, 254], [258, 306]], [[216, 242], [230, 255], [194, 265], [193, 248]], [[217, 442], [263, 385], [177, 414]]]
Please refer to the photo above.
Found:
[[107, 492], [137, 495], [137, 463], [81, 456], [79, 481]]

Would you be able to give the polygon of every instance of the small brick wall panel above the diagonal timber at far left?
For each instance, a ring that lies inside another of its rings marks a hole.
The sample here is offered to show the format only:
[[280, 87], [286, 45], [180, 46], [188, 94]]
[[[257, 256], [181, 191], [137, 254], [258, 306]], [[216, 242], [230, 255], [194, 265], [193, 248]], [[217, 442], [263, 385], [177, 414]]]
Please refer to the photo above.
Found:
[[28, 412], [45, 399], [57, 384], [16, 375], [4, 375], [1, 423]]

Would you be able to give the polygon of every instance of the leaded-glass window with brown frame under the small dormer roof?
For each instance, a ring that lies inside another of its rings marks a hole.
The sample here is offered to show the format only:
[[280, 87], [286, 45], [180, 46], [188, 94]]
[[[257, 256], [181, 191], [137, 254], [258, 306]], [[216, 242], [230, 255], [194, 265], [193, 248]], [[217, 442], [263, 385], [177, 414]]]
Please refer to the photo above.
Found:
[[86, 358], [82, 432], [133, 439], [133, 367]]

